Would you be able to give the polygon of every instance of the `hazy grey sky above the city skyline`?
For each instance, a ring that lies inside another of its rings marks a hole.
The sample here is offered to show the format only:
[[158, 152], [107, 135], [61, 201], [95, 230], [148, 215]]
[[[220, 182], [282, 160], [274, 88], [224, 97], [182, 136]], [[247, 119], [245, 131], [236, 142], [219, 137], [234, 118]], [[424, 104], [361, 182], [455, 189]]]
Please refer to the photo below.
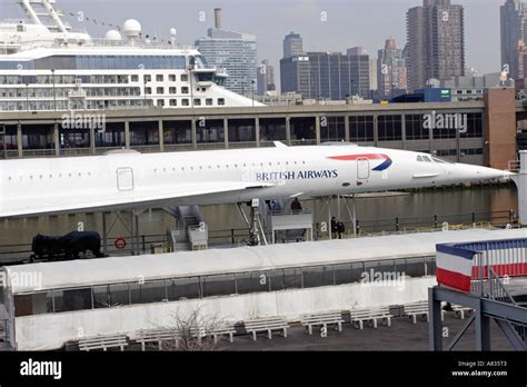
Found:
[[[20, 17], [16, 0], [0, 0], [0, 18]], [[479, 72], [499, 71], [499, 6], [505, 0], [453, 0], [465, 6], [466, 62]], [[58, 0], [58, 8], [96, 19], [86, 23], [102, 37], [106, 21], [122, 24], [138, 19], [145, 33], [168, 38], [171, 27], [178, 41], [193, 43], [213, 26], [213, 8], [223, 9], [223, 28], [256, 34], [259, 60], [269, 59], [279, 75], [282, 40], [290, 31], [304, 38], [306, 51], [342, 51], [364, 46], [377, 57], [388, 37], [406, 42], [406, 11], [421, 0]], [[206, 20], [200, 20], [205, 12]], [[327, 21], [321, 20], [326, 12]], [[74, 18], [69, 18], [76, 24]], [[78, 26], [79, 23], [77, 23]], [[278, 79], [277, 79], [278, 81]]]

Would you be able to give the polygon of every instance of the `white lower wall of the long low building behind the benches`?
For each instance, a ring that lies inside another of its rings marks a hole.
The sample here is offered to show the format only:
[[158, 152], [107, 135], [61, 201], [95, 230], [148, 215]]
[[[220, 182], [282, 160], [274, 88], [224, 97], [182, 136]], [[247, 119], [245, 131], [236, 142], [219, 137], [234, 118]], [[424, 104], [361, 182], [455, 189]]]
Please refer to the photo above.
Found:
[[346, 310], [354, 307], [402, 305], [428, 299], [436, 277], [402, 282], [350, 284], [321, 288], [207, 298], [112, 309], [26, 316], [16, 319], [18, 350], [52, 350], [80, 337], [126, 334], [175, 324], [178, 314], [200, 308], [202, 316], [241, 321], [256, 317], [285, 316], [290, 321], [305, 312]]

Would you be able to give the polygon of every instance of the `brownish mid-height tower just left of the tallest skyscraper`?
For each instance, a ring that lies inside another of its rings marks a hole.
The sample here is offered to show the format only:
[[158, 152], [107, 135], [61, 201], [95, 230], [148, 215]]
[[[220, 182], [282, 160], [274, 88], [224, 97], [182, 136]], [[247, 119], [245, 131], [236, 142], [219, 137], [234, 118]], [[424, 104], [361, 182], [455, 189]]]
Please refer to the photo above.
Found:
[[379, 50], [377, 59], [378, 92], [392, 97], [395, 90], [407, 89], [406, 58], [397, 48], [395, 39], [387, 39], [385, 48]]

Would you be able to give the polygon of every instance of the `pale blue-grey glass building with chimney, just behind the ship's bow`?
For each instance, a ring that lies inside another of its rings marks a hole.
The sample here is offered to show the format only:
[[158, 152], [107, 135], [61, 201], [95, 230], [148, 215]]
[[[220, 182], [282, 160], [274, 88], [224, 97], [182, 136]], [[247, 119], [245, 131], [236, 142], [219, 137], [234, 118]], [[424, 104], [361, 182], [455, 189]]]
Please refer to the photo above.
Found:
[[225, 87], [239, 95], [249, 95], [257, 82], [256, 37], [221, 29], [221, 9], [216, 9], [216, 26], [196, 47], [208, 64], [227, 70]]

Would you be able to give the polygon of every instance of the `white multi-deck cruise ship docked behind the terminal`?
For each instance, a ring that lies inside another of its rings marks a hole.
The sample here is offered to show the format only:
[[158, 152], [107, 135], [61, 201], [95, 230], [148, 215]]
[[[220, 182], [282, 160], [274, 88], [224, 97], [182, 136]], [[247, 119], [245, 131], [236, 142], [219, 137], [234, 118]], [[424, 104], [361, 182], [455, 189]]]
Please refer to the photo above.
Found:
[[95, 39], [56, 0], [16, 2], [26, 18], [0, 21], [0, 111], [261, 106], [225, 89], [228, 75], [178, 44], [176, 29], [159, 42], [130, 19]]

